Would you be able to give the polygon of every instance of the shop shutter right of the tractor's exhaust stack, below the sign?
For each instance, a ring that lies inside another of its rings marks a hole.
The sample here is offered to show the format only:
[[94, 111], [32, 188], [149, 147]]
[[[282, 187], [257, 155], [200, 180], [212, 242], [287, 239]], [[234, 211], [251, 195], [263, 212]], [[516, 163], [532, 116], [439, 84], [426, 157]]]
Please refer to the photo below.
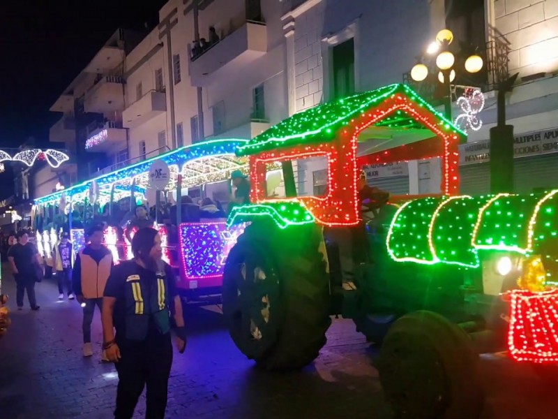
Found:
[[515, 159], [513, 187], [515, 193], [558, 189], [558, 154]]

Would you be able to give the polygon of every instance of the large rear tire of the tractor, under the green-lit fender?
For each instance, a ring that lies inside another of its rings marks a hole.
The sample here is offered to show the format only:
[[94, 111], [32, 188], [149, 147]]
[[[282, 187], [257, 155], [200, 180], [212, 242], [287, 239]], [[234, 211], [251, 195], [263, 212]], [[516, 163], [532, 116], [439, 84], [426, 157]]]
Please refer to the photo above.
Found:
[[259, 221], [230, 251], [223, 314], [236, 346], [259, 367], [300, 369], [326, 344], [329, 280], [316, 226]]

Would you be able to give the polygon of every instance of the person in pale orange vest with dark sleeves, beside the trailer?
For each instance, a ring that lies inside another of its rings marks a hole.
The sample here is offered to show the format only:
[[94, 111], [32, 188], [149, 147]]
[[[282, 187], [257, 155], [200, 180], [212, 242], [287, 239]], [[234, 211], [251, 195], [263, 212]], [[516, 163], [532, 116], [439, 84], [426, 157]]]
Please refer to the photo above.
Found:
[[[83, 355], [93, 355], [91, 346], [91, 323], [95, 306], [103, 307], [103, 292], [112, 270], [112, 253], [103, 245], [103, 228], [93, 226], [88, 234], [87, 244], [77, 253], [73, 267], [73, 291], [83, 307]], [[106, 360], [103, 352], [103, 360]]]

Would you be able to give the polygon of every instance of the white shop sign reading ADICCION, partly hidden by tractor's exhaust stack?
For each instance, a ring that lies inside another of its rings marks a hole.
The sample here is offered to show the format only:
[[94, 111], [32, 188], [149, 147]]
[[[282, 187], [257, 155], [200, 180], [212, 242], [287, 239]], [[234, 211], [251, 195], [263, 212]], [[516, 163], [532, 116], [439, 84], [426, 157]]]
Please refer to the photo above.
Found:
[[[513, 156], [539, 156], [558, 152], [558, 128], [517, 135], [514, 138]], [[459, 147], [462, 166], [490, 161], [490, 140], [469, 142]]]

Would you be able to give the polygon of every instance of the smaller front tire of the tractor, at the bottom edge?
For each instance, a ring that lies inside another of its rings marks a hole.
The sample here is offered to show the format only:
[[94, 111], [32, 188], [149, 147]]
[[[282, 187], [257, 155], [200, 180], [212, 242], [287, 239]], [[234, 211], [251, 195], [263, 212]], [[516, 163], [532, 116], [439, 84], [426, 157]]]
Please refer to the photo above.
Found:
[[477, 419], [483, 390], [467, 334], [443, 316], [414, 311], [393, 324], [377, 369], [397, 419]]

